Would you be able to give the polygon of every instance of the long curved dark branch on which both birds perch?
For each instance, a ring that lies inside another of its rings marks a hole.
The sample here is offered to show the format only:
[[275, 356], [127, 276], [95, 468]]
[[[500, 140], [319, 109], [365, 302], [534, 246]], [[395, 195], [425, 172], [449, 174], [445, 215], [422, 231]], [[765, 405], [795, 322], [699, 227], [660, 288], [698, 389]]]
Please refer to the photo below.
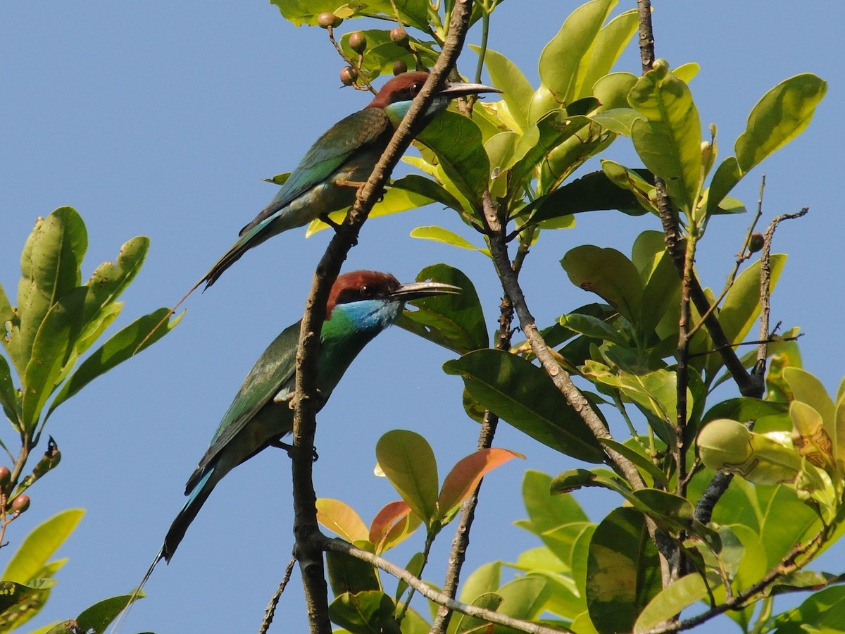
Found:
[[325, 319], [325, 305], [332, 284], [346, 260], [349, 249], [357, 243], [357, 235], [363, 222], [367, 220], [375, 199], [384, 189], [390, 172], [399, 162], [412, 141], [414, 123], [428, 108], [433, 100], [434, 90], [455, 63], [466, 36], [472, 9], [471, 0], [458, 0], [452, 11], [449, 37], [443, 51], [423, 89], [414, 99], [406, 117], [396, 129], [390, 144], [384, 150], [364, 186], [358, 190], [355, 205], [346, 215], [341, 228], [331, 239], [328, 248], [314, 271], [311, 292], [306, 302], [305, 314], [299, 332], [297, 346], [297, 380], [293, 404], [293, 445], [292, 479], [294, 497], [294, 526], [296, 538], [295, 555], [303, 574], [308, 622], [311, 631], [328, 634], [329, 622], [328, 587], [325, 581], [323, 555], [319, 549], [320, 538], [316, 516], [316, 495], [312, 481], [312, 451], [316, 429], [317, 401], [317, 361], [319, 358], [319, 335]]

